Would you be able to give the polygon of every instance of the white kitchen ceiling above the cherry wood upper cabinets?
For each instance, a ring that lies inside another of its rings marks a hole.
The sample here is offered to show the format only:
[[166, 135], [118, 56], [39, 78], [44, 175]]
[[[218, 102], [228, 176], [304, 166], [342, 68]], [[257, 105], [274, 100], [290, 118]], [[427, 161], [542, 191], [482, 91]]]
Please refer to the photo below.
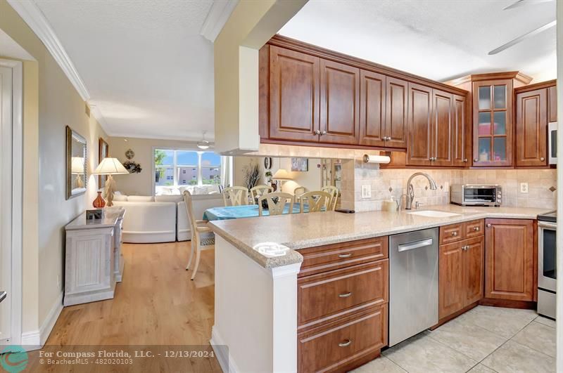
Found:
[[515, 1], [310, 0], [279, 34], [439, 81], [503, 70], [555, 79], [555, 27], [487, 54], [555, 20], [555, 1], [502, 11]]

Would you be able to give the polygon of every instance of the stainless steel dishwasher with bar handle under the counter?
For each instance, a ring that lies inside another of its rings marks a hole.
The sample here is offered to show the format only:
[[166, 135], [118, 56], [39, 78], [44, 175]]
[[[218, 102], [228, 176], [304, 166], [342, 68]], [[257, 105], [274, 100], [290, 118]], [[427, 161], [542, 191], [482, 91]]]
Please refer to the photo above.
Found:
[[389, 346], [438, 323], [438, 228], [389, 237]]

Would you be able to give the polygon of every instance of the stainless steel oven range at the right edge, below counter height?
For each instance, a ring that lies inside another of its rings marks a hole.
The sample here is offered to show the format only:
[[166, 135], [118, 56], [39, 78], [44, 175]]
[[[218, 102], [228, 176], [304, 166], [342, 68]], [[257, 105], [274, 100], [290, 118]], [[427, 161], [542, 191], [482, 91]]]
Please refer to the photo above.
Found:
[[555, 319], [557, 212], [538, 215], [538, 313]]

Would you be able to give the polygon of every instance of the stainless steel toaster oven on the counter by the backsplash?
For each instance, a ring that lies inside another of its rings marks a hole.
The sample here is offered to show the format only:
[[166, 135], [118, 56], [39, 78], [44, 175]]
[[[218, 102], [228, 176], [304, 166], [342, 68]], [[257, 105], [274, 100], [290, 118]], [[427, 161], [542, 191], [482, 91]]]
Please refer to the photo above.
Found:
[[502, 188], [496, 184], [453, 184], [450, 188], [450, 202], [460, 206], [500, 206]]

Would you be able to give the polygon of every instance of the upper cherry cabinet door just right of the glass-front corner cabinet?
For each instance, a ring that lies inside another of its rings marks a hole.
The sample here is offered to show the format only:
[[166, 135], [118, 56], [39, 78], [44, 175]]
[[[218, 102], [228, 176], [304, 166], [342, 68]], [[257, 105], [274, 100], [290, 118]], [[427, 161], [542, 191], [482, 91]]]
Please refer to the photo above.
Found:
[[548, 165], [548, 90], [516, 95], [516, 166]]

